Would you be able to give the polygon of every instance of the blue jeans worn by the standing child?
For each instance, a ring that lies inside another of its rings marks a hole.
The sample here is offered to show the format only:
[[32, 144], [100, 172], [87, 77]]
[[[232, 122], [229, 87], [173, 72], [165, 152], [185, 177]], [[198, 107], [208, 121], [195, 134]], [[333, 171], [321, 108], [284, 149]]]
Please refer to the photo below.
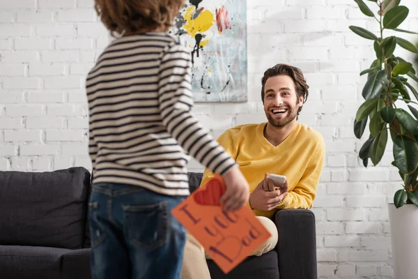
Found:
[[94, 184], [88, 203], [92, 278], [180, 278], [185, 228], [171, 209], [184, 198]]

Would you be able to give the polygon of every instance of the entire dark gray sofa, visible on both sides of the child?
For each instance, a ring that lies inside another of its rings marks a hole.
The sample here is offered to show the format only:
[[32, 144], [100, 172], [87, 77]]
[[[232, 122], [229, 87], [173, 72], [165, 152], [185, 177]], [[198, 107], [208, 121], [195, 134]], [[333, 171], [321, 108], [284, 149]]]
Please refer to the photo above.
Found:
[[[201, 173], [189, 173], [190, 190]], [[84, 167], [54, 172], [0, 172], [0, 278], [89, 279], [87, 204], [91, 174]], [[282, 210], [275, 250], [248, 257], [229, 274], [208, 260], [212, 279], [316, 279], [315, 218]]]

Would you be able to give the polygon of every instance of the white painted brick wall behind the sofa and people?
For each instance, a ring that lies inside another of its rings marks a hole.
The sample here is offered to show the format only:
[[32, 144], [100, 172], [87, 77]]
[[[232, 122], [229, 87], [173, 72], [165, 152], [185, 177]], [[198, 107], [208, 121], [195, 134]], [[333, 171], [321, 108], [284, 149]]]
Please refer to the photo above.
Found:
[[[416, 27], [416, 0], [402, 4], [414, 12], [401, 27]], [[375, 22], [351, 0], [247, 0], [247, 8], [249, 102], [198, 103], [198, 118], [215, 137], [265, 121], [265, 68], [302, 68], [311, 95], [300, 121], [320, 131], [327, 147], [313, 209], [319, 278], [393, 278], [387, 202], [398, 175], [390, 153], [382, 165], [362, 167], [357, 151], [364, 140], [353, 135], [366, 81], [358, 74], [374, 54], [348, 26], [376, 30]], [[109, 41], [93, 0], [0, 0], [0, 10], [0, 169], [90, 168], [83, 84]], [[202, 167], [192, 160], [189, 169]]]

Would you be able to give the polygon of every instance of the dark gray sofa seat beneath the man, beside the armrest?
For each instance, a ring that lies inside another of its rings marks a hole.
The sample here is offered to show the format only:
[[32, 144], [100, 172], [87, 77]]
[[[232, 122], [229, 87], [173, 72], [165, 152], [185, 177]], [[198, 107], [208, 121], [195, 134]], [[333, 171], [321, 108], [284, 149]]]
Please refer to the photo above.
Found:
[[219, 266], [207, 259], [211, 279], [241, 279], [241, 278], [263, 278], [278, 279], [279, 264], [277, 262], [277, 252], [271, 250], [261, 256], [250, 256], [231, 272], [225, 274]]

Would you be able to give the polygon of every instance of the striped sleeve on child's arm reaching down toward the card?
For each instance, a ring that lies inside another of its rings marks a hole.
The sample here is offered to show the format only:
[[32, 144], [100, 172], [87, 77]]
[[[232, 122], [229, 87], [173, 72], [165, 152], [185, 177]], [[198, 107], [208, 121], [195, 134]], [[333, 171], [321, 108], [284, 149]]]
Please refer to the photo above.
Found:
[[190, 54], [178, 43], [171, 45], [162, 56], [158, 100], [162, 123], [190, 156], [219, 174], [226, 173], [235, 165], [235, 160], [192, 114]]

